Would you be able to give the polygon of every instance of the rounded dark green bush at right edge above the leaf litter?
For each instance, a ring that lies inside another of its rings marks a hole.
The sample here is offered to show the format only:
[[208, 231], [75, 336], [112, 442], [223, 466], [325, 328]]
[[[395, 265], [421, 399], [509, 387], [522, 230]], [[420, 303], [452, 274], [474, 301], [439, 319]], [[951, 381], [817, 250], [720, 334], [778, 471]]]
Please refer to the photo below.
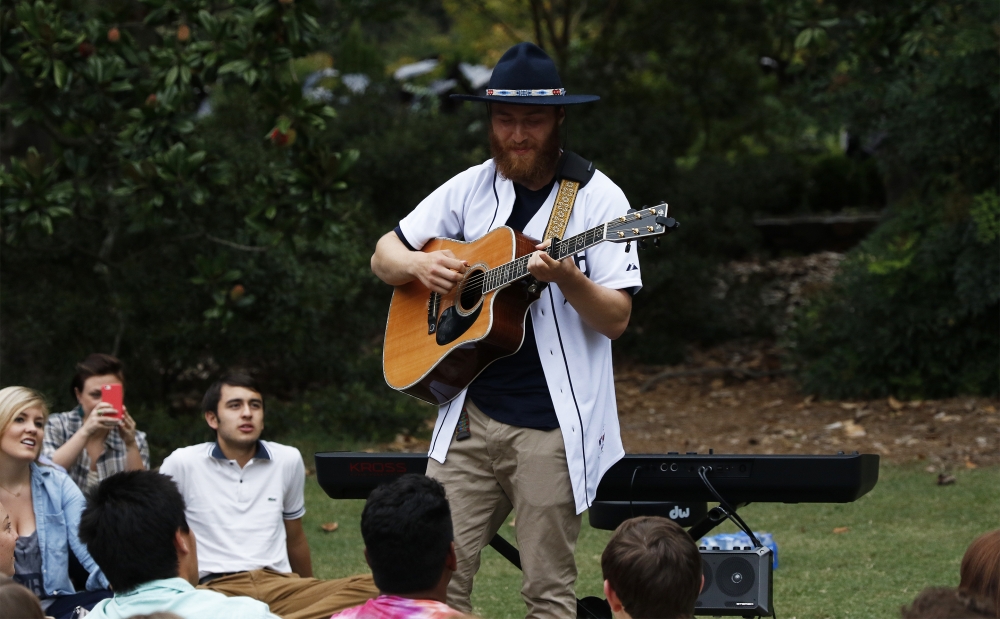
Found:
[[976, 201], [980, 215], [957, 221], [940, 203], [900, 205], [851, 252], [791, 334], [805, 390], [840, 398], [997, 393], [1000, 208], [992, 191]]

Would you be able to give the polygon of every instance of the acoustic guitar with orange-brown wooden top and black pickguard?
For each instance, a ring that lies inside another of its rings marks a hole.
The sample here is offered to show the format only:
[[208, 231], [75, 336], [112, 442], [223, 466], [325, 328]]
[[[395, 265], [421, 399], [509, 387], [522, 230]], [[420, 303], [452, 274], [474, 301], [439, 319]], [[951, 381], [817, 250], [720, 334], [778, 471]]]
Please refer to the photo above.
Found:
[[[678, 226], [667, 216], [666, 204], [630, 209], [576, 236], [553, 239], [546, 251], [563, 260], [604, 241], [642, 244]], [[524, 340], [525, 314], [543, 288], [528, 273], [528, 258], [537, 244], [506, 226], [471, 242], [428, 241], [421, 251], [450, 249], [469, 268], [448, 294], [433, 292], [419, 280], [396, 286], [382, 353], [389, 386], [431, 404], [445, 404], [486, 366], [517, 352]]]

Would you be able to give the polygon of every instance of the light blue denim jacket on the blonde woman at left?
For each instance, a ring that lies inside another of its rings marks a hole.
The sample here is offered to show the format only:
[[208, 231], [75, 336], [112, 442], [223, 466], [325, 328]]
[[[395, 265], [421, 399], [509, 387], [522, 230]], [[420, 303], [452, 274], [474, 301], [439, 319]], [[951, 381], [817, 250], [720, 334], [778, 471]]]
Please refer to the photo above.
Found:
[[38, 546], [42, 551], [42, 584], [46, 597], [76, 593], [69, 579], [69, 551], [90, 574], [87, 590], [108, 589], [108, 579], [80, 541], [83, 493], [69, 475], [31, 463], [31, 503], [35, 510]]

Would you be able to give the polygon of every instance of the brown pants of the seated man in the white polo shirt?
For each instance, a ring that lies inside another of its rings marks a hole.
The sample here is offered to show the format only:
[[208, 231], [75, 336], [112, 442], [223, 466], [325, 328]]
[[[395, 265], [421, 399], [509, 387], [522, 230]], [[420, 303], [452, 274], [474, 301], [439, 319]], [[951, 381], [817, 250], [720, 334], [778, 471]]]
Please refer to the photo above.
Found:
[[335, 612], [378, 596], [371, 574], [319, 580], [268, 569], [221, 576], [199, 588], [260, 600], [284, 619], [329, 619]]

